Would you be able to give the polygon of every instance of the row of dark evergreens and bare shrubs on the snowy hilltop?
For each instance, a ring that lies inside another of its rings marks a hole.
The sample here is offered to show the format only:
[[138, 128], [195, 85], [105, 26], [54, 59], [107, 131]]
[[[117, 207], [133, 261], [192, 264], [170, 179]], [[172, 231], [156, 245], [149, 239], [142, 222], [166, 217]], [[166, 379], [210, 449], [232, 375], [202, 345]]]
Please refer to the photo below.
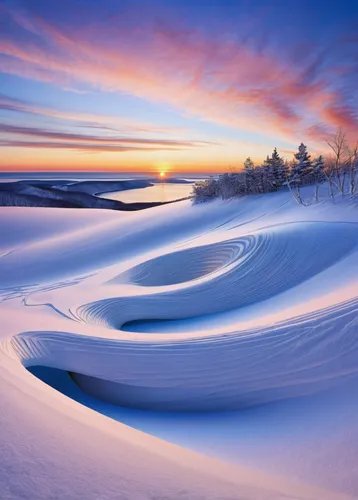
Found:
[[346, 135], [341, 130], [327, 144], [332, 154], [312, 158], [307, 146], [301, 143], [292, 161], [285, 160], [274, 148], [262, 164], [255, 165], [251, 158], [244, 162], [239, 172], [230, 172], [196, 182], [193, 186], [194, 203], [213, 198], [228, 199], [234, 196], [259, 194], [289, 189], [296, 201], [305, 204], [301, 187], [315, 186], [315, 199], [319, 201], [319, 188], [327, 182], [332, 200], [337, 193], [348, 192], [353, 196], [358, 184], [358, 142], [349, 147]]

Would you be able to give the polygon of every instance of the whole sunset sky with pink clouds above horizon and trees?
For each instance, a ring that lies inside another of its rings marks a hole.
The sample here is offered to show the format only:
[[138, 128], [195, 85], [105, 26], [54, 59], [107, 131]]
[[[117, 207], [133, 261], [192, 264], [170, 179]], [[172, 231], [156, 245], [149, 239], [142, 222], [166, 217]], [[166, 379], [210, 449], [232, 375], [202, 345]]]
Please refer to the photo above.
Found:
[[0, 170], [220, 172], [354, 142], [357, 24], [350, 0], [0, 0]]

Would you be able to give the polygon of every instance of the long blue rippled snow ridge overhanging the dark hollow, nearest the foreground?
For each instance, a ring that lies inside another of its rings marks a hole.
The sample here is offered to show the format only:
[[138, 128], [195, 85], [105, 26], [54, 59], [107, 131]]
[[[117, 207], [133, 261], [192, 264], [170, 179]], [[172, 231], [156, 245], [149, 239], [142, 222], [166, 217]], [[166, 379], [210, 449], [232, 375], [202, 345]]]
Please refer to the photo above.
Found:
[[26, 366], [74, 372], [111, 403], [175, 411], [236, 409], [311, 394], [358, 373], [358, 298], [257, 330], [163, 342], [27, 332]]

